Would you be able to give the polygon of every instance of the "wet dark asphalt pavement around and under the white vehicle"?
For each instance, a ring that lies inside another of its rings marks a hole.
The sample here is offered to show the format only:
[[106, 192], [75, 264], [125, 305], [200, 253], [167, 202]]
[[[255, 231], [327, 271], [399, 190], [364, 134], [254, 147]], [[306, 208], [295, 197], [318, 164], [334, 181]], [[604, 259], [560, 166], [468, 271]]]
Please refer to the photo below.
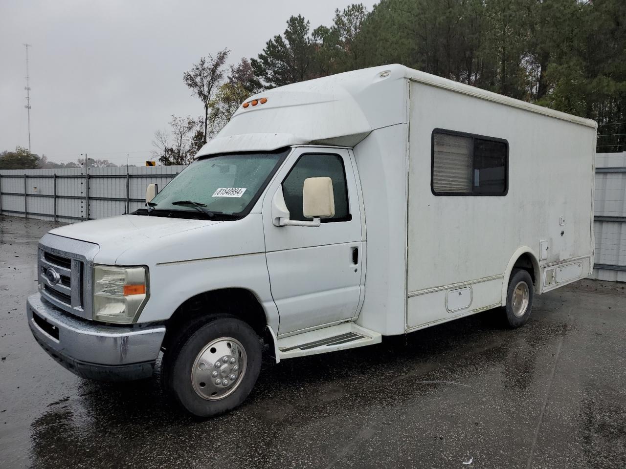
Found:
[[196, 421], [168, 406], [157, 376], [81, 380], [35, 343], [24, 305], [53, 226], [0, 217], [0, 468], [626, 467], [624, 284], [538, 296], [520, 330], [486, 311], [265, 360], [244, 405]]

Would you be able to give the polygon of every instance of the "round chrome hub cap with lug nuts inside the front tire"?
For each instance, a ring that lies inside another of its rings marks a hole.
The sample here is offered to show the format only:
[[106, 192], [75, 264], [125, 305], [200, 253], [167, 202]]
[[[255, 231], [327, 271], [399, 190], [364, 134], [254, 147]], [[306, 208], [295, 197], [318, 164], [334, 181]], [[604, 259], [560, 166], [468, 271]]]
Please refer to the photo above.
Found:
[[241, 383], [247, 361], [244, 346], [238, 340], [220, 337], [211, 341], [193, 362], [193, 389], [203, 399], [225, 398]]

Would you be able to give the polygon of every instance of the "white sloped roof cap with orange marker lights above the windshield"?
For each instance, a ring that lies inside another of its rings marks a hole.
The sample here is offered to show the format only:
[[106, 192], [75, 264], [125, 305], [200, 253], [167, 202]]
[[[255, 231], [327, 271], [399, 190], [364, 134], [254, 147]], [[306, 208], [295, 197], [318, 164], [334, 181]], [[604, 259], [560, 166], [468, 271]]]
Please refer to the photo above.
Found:
[[248, 102], [267, 102], [240, 107], [198, 155], [308, 143], [354, 146], [372, 129], [406, 121], [404, 70], [369, 68], [259, 93]]

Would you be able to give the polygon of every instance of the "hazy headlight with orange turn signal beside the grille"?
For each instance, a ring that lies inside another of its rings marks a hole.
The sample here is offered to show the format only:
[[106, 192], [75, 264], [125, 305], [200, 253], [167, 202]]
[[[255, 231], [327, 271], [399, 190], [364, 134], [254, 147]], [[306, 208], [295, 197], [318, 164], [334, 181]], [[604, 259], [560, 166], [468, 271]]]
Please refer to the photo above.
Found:
[[107, 323], [133, 323], [148, 299], [145, 267], [93, 268], [93, 318]]

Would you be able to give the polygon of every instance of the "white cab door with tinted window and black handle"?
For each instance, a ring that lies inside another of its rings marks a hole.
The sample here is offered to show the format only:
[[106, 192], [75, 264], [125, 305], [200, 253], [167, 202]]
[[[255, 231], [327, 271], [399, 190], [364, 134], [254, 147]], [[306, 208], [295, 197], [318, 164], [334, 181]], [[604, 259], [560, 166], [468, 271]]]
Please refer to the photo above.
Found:
[[[335, 215], [320, 226], [275, 226], [272, 198], [282, 186], [290, 220], [302, 215], [306, 178], [332, 180]], [[287, 158], [263, 204], [265, 250], [280, 335], [351, 320], [364, 290], [361, 212], [351, 155], [344, 148], [299, 147]]]

